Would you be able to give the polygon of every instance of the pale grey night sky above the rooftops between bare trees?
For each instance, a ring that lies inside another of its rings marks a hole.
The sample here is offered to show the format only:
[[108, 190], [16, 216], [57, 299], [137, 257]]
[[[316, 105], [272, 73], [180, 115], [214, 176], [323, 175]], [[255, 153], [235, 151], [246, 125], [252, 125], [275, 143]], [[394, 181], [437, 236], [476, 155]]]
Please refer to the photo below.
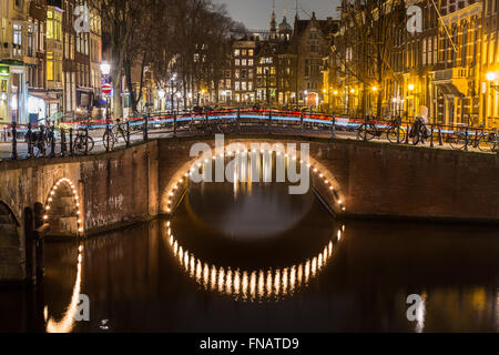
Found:
[[[266, 30], [272, 13], [272, 0], [213, 0], [215, 3], [227, 4], [228, 11], [234, 20], [243, 22], [247, 29], [251, 30]], [[339, 6], [339, 0], [301, 0], [299, 17], [308, 19], [312, 11], [316, 12], [318, 19], [326, 19], [327, 17], [336, 16], [336, 7]], [[295, 18], [295, 0], [275, 0], [275, 12], [277, 23], [283, 19], [284, 8], [287, 8], [286, 17], [293, 24]]]

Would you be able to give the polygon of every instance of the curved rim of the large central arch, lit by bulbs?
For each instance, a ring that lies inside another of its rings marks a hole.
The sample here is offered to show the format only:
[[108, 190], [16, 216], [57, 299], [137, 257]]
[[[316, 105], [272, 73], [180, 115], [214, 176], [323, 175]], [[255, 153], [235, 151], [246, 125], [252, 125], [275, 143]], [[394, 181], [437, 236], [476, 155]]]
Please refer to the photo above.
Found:
[[[161, 192], [160, 209], [164, 214], [172, 214], [179, 204], [185, 186], [189, 182], [190, 174], [196, 169], [203, 169], [203, 164], [207, 163], [210, 160], [215, 161], [216, 159], [230, 159], [235, 158], [237, 154], [254, 154], [264, 152], [272, 152], [276, 155], [282, 154], [286, 160], [295, 161], [297, 164], [302, 163], [301, 152], [286, 153], [285, 151], [279, 151], [276, 145], [268, 145], [267, 149], [262, 149], [261, 151], [255, 151], [252, 149], [253, 143], [237, 143], [238, 148], [234, 150], [234, 143], [225, 144], [224, 153], [213, 156], [202, 156], [202, 158], [190, 158], [170, 179], [166, 184], [166, 189]], [[259, 144], [259, 142], [257, 143]], [[310, 183], [315, 191], [318, 193], [324, 203], [326, 203], [330, 210], [336, 214], [340, 215], [347, 212], [346, 206], [346, 194], [343, 191], [340, 184], [335, 178], [334, 173], [325, 168], [317, 159], [308, 156], [308, 163], [306, 164], [309, 170]]]

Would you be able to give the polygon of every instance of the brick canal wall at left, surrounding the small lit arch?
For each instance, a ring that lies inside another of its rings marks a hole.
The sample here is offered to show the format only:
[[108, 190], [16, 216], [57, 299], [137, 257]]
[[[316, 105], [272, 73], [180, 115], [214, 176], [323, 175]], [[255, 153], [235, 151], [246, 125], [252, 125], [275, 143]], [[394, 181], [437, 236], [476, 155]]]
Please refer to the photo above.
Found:
[[157, 214], [157, 142], [101, 155], [0, 163], [0, 203], [17, 222], [9, 235], [0, 224], [0, 282], [26, 278], [24, 210], [45, 205], [60, 179], [73, 183], [83, 229], [92, 234]]

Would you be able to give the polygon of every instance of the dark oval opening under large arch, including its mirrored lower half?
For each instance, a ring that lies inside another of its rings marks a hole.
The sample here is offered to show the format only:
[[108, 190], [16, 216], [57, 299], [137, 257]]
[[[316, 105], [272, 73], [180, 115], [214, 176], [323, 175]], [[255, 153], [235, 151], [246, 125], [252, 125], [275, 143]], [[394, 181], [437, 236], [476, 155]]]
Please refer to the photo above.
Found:
[[175, 240], [232, 268], [298, 263], [319, 254], [339, 227], [330, 207], [342, 207], [338, 184], [296, 151], [227, 146], [176, 176], [166, 193]]

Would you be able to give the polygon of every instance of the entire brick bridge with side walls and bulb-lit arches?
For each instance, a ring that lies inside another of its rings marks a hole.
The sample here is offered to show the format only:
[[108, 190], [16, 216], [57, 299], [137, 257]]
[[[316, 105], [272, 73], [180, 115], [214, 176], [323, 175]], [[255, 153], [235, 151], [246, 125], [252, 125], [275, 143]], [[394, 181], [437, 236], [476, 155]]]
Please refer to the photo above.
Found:
[[[174, 212], [200, 139], [152, 140], [79, 158], [0, 163], [0, 282], [27, 278], [28, 231], [91, 235]], [[214, 145], [213, 138], [202, 139]], [[237, 135], [226, 144], [299, 143]], [[339, 217], [499, 222], [497, 154], [306, 139], [313, 186]], [[299, 160], [299, 156], [297, 156]], [[33, 222], [34, 221], [34, 222]], [[34, 225], [33, 225], [34, 224]]]

